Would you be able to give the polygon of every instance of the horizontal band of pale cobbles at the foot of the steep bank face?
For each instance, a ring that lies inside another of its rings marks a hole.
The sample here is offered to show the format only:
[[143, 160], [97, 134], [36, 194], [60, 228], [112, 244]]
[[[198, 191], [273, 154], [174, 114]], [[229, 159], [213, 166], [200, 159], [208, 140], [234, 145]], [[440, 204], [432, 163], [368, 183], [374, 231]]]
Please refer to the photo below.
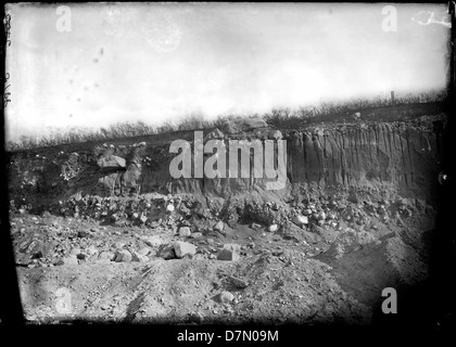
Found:
[[[24, 208], [18, 209], [25, 213]], [[138, 197], [100, 197], [77, 194], [49, 207], [54, 216], [80, 218], [115, 227], [165, 228], [208, 232], [217, 221], [232, 229], [238, 224], [283, 233], [294, 224], [324, 239], [345, 228], [376, 231], [380, 224], [404, 227], [416, 214], [432, 214], [420, 200], [395, 198], [353, 203], [342, 198], [276, 201], [230, 198], [223, 203], [192, 195], [145, 194]], [[220, 228], [218, 228], [220, 229]], [[220, 231], [220, 230], [219, 230]], [[332, 236], [329, 237], [332, 241]]]

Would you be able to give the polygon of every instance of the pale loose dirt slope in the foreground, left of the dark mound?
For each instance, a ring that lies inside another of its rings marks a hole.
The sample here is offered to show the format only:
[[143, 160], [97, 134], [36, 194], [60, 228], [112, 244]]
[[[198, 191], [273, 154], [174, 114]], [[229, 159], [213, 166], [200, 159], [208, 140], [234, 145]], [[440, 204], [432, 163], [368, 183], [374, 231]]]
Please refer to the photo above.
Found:
[[[106, 227], [89, 231], [90, 235], [84, 237], [79, 237], [79, 236], [72, 239], [73, 230], [65, 227], [72, 226], [69, 220], [58, 219], [52, 222], [55, 227], [45, 231], [39, 229], [41, 218], [34, 218], [23, 216], [15, 222], [22, 220], [21, 224], [29, 231], [35, 229], [34, 234], [49, 234], [56, 242], [50, 243], [50, 253], [29, 259], [27, 268], [18, 268], [21, 295], [29, 320], [175, 323], [370, 320], [368, 307], [342, 290], [331, 275], [331, 268], [309, 257], [312, 247], [278, 234], [245, 227], [244, 232], [227, 230], [225, 236], [183, 239], [197, 245], [197, 255], [192, 259], [165, 260], [157, 256], [160, 245], [181, 239], [166, 230], [150, 235], [140, 228], [121, 232]], [[238, 261], [210, 256], [227, 243], [241, 246]], [[144, 246], [150, 248], [149, 261], [103, 260], [103, 254], [114, 253], [115, 248], [134, 253]], [[71, 254], [78, 259], [74, 264], [58, 266], [46, 261], [47, 257], [56, 260]], [[220, 300], [220, 293], [225, 292], [232, 295], [227, 303]], [[65, 311], [63, 304], [71, 310]]]

